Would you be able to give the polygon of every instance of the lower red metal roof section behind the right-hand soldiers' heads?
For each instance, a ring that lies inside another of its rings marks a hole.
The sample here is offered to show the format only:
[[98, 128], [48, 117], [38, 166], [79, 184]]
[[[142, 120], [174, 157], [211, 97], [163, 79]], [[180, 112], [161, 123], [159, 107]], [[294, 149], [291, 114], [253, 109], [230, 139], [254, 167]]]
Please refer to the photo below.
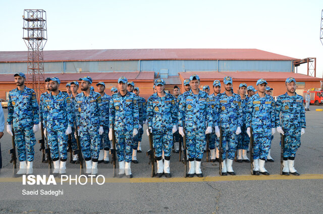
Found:
[[181, 72], [179, 73], [184, 79], [189, 79], [191, 75], [197, 74], [203, 81], [223, 80], [224, 77], [230, 76], [235, 80], [250, 80], [265, 79], [271, 81], [282, 81], [289, 77], [294, 77], [296, 81], [320, 81], [321, 78], [311, 77], [305, 74], [296, 74], [292, 72], [259, 72], [259, 71], [240, 71], [240, 72]]

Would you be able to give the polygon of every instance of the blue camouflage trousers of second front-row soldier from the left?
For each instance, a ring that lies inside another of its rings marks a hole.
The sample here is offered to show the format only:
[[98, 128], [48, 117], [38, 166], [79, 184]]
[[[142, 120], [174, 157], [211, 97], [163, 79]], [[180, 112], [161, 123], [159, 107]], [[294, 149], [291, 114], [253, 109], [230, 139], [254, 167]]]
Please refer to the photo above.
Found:
[[67, 159], [68, 135], [65, 134], [65, 131], [66, 129], [47, 130], [47, 141], [52, 161], [57, 161], [59, 158]]

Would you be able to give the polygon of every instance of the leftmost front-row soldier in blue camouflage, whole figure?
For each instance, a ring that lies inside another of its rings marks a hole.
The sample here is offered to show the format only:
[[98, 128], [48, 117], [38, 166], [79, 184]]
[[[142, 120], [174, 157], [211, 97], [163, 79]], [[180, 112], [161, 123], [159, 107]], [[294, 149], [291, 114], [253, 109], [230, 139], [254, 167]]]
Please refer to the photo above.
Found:
[[34, 133], [39, 130], [39, 108], [35, 91], [25, 86], [25, 74], [16, 73], [14, 77], [17, 88], [9, 92], [7, 132], [13, 136], [13, 128], [15, 133], [20, 162], [17, 174], [32, 174], [36, 143]]

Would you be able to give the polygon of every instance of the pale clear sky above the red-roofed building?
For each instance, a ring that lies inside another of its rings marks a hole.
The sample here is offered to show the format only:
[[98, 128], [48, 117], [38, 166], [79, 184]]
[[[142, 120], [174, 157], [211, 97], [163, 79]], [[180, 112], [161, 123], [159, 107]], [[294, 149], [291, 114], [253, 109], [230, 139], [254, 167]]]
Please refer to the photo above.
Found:
[[[25, 9], [46, 11], [44, 50], [132, 48], [257, 48], [297, 59], [316, 57], [323, 1], [5, 1], [0, 51], [27, 50]], [[306, 74], [306, 64], [298, 73]]]

